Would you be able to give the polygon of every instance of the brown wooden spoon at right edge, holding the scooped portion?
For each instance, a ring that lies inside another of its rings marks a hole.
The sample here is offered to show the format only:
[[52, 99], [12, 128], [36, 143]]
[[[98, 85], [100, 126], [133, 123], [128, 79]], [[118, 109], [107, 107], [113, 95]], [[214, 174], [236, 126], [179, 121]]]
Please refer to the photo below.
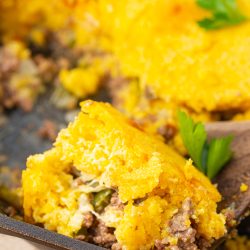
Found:
[[[238, 221], [250, 209], [250, 121], [216, 122], [206, 125], [209, 137], [234, 135], [233, 159], [219, 173], [214, 182], [223, 196], [220, 209], [232, 206]], [[248, 190], [242, 192], [240, 186], [246, 184]]]

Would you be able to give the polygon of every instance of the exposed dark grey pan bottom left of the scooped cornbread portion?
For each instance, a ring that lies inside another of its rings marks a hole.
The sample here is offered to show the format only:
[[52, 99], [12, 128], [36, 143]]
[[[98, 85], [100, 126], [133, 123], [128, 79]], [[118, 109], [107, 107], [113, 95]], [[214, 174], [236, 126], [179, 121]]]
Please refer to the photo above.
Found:
[[[90, 99], [106, 102], [110, 100], [104, 89]], [[5, 114], [6, 122], [2, 125], [0, 123], [0, 155], [6, 156], [6, 160], [0, 161], [0, 166], [25, 169], [29, 155], [42, 153], [51, 147], [52, 142], [40, 138], [37, 132], [44, 120], [54, 122], [58, 129], [66, 127], [67, 111], [57, 109], [50, 100], [51, 94], [46, 93], [38, 99], [32, 112], [14, 109]]]

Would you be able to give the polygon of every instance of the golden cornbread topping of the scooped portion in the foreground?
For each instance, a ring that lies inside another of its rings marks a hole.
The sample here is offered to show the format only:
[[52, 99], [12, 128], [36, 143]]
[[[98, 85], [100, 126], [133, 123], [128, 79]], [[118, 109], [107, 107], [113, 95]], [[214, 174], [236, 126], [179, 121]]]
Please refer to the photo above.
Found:
[[[114, 213], [115, 222], [104, 219], [106, 210], [97, 214], [88, 190], [73, 184], [72, 166], [118, 191], [124, 209]], [[116, 228], [124, 249], [150, 249], [162, 239], [176, 244], [169, 223], [187, 199], [193, 207], [187, 227], [192, 220], [207, 241], [226, 232], [225, 218], [216, 212], [221, 197], [210, 181], [190, 160], [106, 103], [81, 103], [78, 117], [59, 133], [54, 147], [28, 158], [22, 182], [26, 219], [69, 236], [78, 232], [84, 213], [90, 211]]]

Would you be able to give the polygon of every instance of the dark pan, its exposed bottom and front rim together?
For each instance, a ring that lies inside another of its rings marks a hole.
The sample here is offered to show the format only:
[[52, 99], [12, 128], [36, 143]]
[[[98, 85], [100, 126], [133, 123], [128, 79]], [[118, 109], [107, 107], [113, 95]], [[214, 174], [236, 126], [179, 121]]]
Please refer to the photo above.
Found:
[[[108, 101], [103, 90], [91, 99]], [[0, 160], [0, 167], [25, 169], [26, 159], [29, 155], [42, 153], [52, 146], [51, 141], [38, 136], [38, 130], [44, 120], [54, 122], [58, 129], [66, 127], [65, 115], [67, 112], [55, 108], [50, 100], [51, 94], [47, 92], [38, 99], [32, 112], [27, 113], [14, 109], [4, 114], [5, 122], [0, 123], [0, 158], [3, 159]], [[102, 249], [2, 214], [0, 214], [0, 233], [25, 238], [56, 249]]]

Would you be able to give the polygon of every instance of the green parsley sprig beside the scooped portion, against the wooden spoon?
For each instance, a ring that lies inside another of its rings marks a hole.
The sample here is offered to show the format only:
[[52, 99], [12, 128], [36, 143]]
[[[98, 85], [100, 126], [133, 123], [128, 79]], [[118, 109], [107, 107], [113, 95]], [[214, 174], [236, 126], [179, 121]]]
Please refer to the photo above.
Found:
[[185, 112], [178, 112], [179, 129], [183, 143], [195, 166], [208, 178], [214, 178], [231, 159], [232, 136], [207, 139], [204, 124], [195, 123]]

